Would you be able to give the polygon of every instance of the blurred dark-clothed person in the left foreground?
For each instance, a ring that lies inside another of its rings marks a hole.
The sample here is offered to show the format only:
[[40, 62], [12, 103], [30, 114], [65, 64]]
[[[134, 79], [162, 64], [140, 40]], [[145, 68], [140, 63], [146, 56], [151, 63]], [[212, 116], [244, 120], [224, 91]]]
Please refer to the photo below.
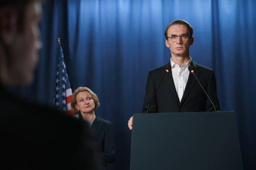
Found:
[[40, 0], [0, 2], [0, 169], [97, 169], [83, 121], [6, 90], [33, 80], [40, 18]]

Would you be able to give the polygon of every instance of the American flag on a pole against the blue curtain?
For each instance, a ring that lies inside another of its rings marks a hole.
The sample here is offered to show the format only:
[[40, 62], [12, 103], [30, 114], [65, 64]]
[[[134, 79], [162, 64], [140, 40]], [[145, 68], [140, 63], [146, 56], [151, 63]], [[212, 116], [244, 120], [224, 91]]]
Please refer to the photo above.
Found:
[[59, 38], [58, 48], [59, 48], [59, 61], [57, 65], [56, 73], [56, 85], [54, 91], [54, 106], [59, 107], [59, 109], [64, 112], [68, 112], [69, 115], [75, 115], [71, 109], [71, 97], [72, 90], [69, 84], [69, 77], [67, 75], [66, 65], [64, 62], [63, 51], [60, 45]]

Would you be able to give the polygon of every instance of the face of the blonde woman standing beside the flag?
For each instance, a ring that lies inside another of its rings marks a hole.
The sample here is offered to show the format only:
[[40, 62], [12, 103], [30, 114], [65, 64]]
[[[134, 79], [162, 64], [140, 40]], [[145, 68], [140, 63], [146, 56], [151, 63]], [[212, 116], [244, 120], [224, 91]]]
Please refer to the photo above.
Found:
[[87, 91], [79, 92], [76, 96], [76, 100], [77, 100], [77, 104], [75, 104], [75, 107], [81, 113], [94, 112], [95, 103], [89, 92]]

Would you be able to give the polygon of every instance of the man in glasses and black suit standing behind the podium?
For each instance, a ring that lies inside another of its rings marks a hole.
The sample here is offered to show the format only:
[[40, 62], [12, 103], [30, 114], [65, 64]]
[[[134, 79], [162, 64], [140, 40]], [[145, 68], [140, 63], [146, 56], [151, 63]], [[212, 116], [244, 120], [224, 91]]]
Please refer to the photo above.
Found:
[[[194, 42], [191, 25], [184, 20], [176, 20], [167, 26], [164, 35], [166, 47], [171, 51], [171, 61], [148, 73], [142, 112], [214, 111], [202, 87], [189, 72], [189, 65], [194, 67], [195, 75], [216, 110], [220, 110], [213, 70], [196, 64], [189, 56], [189, 47]], [[132, 123], [133, 117], [128, 121], [130, 130]]]

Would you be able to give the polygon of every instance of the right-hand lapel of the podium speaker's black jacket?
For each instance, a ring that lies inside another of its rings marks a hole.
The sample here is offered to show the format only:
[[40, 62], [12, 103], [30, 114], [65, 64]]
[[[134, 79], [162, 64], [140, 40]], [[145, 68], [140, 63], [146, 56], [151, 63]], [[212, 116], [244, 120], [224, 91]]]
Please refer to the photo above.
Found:
[[[195, 67], [195, 75], [197, 76], [197, 78], [199, 77], [200, 75], [200, 70], [197, 69], [198, 65], [191, 61], [191, 65]], [[182, 103], [184, 102], [184, 100], [186, 100], [187, 98], [187, 95], [189, 94], [189, 92], [191, 91], [192, 87], [194, 86], [195, 82], [197, 81], [197, 79], [195, 78], [195, 76], [189, 72], [189, 77], [188, 77], [188, 80], [187, 80], [187, 85], [185, 87], [185, 90], [184, 90], [184, 93], [183, 93], [183, 96], [182, 96], [182, 100], [180, 102], [180, 105], [182, 105]]]

